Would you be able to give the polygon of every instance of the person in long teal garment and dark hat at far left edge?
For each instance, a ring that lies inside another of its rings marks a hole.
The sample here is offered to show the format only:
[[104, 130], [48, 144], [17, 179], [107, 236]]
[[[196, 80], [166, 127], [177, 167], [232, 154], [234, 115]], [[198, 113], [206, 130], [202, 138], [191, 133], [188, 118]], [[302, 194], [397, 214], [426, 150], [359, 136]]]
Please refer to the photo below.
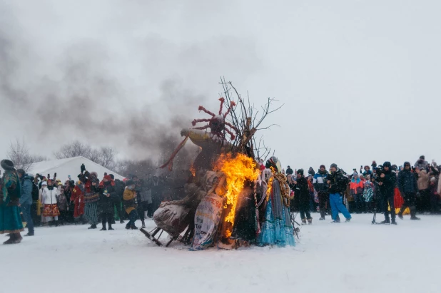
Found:
[[0, 188], [0, 234], [9, 234], [9, 240], [3, 244], [17, 244], [23, 239], [20, 232], [24, 231], [19, 207], [20, 179], [11, 160], [1, 160], [0, 165], [4, 169]]

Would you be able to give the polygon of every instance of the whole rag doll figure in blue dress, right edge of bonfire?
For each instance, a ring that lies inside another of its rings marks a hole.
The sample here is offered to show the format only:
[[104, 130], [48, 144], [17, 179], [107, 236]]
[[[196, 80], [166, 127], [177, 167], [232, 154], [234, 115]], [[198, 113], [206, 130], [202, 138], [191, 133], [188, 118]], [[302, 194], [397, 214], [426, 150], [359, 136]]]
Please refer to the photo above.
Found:
[[290, 187], [278, 158], [271, 157], [265, 165], [273, 172], [268, 182], [268, 203], [265, 220], [258, 238], [259, 245], [294, 246], [294, 230], [290, 220]]

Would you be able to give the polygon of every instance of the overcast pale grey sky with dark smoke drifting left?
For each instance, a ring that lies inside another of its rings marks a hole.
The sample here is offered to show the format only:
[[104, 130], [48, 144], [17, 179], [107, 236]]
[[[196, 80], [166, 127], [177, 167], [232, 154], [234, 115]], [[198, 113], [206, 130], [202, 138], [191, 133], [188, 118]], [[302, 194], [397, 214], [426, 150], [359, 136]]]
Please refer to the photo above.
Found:
[[[435, 0], [0, 1], [0, 155], [24, 137], [41, 155], [77, 138], [146, 157], [155, 131], [218, 108], [225, 76], [256, 105], [285, 104], [260, 133], [284, 167], [441, 163], [440, 12]], [[138, 136], [127, 117], [146, 123]]]

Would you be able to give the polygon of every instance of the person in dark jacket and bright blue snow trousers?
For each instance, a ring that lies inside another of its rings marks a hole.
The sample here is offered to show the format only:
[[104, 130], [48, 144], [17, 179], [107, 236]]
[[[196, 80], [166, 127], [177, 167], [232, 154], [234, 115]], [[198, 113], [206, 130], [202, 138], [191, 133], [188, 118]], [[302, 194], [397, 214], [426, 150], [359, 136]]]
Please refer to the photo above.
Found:
[[348, 209], [343, 205], [343, 192], [348, 187], [349, 179], [343, 175], [338, 169], [337, 164], [330, 165], [331, 173], [326, 177], [326, 183], [328, 184], [329, 200], [331, 210], [333, 213], [333, 222], [340, 222], [338, 212], [343, 213], [346, 218], [346, 222], [349, 222], [352, 218]]

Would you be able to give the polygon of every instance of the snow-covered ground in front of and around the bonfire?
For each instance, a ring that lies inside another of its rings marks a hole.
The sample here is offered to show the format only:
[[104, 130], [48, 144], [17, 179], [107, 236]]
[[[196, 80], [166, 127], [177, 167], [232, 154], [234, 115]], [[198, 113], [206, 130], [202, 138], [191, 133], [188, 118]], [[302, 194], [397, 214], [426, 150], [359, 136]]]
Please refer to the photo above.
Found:
[[398, 226], [313, 217], [296, 247], [233, 251], [156, 247], [120, 224], [41, 227], [0, 246], [0, 292], [441, 292], [441, 217]]

